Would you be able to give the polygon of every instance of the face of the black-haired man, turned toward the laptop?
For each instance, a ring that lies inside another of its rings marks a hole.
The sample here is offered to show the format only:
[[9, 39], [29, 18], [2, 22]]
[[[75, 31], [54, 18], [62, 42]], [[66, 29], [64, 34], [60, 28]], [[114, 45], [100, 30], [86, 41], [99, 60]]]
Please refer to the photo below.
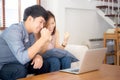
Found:
[[39, 33], [45, 24], [45, 19], [42, 16], [36, 17], [33, 19], [32, 23], [33, 33]]

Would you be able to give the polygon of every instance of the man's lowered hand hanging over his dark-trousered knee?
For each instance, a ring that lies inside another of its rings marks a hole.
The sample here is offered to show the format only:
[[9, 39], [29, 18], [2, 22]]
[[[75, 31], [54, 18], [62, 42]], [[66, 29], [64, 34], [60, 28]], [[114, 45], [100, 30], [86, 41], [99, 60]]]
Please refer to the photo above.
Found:
[[43, 65], [43, 59], [40, 55], [36, 55], [35, 58], [33, 59], [31, 65], [33, 65], [34, 69], [40, 69]]

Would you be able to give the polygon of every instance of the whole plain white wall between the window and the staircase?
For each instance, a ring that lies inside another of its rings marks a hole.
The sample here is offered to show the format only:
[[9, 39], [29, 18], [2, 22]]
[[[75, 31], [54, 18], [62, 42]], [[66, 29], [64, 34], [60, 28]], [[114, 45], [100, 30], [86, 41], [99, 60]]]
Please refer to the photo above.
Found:
[[102, 38], [110, 28], [96, 13], [95, 0], [42, 0], [42, 6], [55, 14], [61, 41], [68, 31], [69, 43], [83, 44], [91, 38]]

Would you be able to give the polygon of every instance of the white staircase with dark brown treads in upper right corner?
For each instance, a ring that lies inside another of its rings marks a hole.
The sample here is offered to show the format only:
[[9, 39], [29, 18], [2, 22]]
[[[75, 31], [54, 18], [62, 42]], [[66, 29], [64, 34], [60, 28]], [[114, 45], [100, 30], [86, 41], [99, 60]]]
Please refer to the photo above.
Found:
[[113, 28], [120, 27], [120, 0], [97, 0], [97, 13]]

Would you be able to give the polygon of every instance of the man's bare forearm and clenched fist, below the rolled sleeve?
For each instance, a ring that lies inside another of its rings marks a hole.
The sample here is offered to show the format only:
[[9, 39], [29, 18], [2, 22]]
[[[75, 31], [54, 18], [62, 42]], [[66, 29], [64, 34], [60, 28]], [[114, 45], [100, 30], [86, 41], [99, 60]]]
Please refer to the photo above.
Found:
[[44, 28], [41, 30], [41, 37], [30, 47], [28, 48], [28, 55], [30, 59], [42, 50], [42, 47], [46, 42], [50, 40], [51, 34], [48, 29]]

